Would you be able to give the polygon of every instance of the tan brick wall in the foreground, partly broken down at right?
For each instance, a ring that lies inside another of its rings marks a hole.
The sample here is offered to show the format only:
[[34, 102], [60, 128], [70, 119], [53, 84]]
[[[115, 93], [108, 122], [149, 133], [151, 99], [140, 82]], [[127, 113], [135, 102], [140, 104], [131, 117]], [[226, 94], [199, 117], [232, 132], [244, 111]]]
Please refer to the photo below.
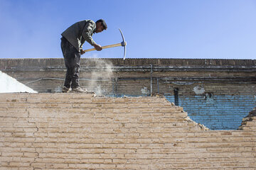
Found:
[[164, 97], [1, 94], [0, 120], [0, 170], [256, 167], [255, 115], [212, 131]]

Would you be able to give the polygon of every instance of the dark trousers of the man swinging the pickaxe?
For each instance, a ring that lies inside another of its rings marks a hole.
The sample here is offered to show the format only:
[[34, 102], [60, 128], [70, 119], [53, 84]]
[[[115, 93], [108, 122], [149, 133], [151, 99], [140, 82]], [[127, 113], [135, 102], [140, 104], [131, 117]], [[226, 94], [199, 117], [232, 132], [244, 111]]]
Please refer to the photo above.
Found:
[[67, 39], [61, 38], [61, 50], [65, 61], [67, 72], [65, 75], [64, 86], [74, 89], [79, 85], [80, 52], [75, 49]]

